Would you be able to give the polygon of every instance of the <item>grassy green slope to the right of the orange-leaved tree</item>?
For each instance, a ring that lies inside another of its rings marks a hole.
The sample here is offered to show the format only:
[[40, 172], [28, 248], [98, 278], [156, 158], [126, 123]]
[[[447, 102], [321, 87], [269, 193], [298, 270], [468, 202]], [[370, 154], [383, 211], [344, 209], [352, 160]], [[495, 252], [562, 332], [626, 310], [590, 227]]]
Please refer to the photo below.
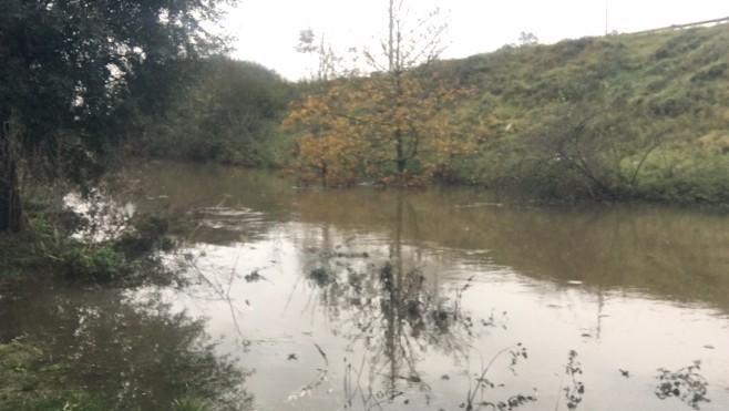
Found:
[[729, 24], [441, 62], [495, 133], [461, 177], [542, 198], [729, 202]]

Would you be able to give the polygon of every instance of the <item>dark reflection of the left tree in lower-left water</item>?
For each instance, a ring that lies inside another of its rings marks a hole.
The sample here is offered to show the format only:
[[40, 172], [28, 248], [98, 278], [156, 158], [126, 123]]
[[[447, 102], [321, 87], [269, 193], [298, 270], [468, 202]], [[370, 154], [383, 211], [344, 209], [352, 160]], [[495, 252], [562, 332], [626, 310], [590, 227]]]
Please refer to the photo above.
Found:
[[248, 373], [216, 355], [204, 320], [175, 312], [155, 294], [138, 299], [123, 290], [29, 289], [0, 309], [0, 338], [40, 336], [48, 347], [41, 361], [72, 370], [63, 387], [91, 392], [109, 409], [251, 405]]

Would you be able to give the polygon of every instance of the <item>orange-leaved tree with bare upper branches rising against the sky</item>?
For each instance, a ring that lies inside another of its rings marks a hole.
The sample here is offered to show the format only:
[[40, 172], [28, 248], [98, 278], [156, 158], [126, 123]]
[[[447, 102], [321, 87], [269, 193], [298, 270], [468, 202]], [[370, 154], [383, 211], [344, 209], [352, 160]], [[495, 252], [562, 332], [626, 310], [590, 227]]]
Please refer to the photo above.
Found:
[[284, 122], [299, 133], [292, 169], [302, 182], [420, 185], [474, 152], [479, 122], [459, 117], [469, 90], [428, 70], [446, 24], [438, 11], [415, 21], [409, 16], [405, 2], [391, 0], [382, 53], [364, 51], [377, 72], [325, 84]]

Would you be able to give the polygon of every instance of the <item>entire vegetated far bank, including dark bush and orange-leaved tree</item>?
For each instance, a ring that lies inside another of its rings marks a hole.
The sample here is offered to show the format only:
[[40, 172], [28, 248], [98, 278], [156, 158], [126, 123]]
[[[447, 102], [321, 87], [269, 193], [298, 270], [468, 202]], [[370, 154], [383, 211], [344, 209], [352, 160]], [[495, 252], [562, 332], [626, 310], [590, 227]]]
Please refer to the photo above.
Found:
[[284, 166], [306, 184], [729, 204], [729, 24], [507, 45], [329, 82], [213, 65], [173, 125], [157, 125], [157, 155]]

